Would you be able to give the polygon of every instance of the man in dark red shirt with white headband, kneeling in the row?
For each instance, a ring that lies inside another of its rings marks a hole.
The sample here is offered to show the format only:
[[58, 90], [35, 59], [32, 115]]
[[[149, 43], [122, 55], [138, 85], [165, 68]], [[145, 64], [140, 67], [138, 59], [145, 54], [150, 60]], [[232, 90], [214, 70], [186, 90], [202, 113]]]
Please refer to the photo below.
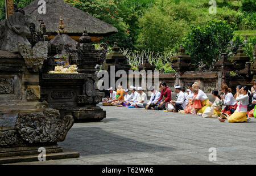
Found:
[[171, 90], [167, 87], [167, 84], [165, 82], [160, 83], [160, 87], [162, 89], [161, 95], [158, 99], [158, 101], [154, 102], [154, 104], [158, 104], [158, 106], [155, 106], [155, 110], [163, 110], [166, 108], [167, 102], [170, 102], [172, 100], [171, 97]]

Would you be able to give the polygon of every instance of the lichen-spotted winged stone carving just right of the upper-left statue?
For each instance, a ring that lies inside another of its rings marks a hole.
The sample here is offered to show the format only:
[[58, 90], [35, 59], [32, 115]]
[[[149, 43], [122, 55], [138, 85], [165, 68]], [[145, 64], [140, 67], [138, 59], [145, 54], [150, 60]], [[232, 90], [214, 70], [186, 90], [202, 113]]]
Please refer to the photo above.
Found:
[[39, 72], [43, 66], [44, 60], [48, 56], [48, 42], [39, 41], [31, 49], [30, 46], [18, 44], [19, 53], [25, 59], [27, 67], [32, 72]]

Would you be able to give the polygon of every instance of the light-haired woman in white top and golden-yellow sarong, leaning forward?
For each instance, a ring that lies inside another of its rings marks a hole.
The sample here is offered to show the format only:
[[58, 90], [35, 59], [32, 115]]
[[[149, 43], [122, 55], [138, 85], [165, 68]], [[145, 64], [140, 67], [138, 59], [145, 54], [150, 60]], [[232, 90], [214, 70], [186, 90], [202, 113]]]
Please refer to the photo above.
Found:
[[[192, 85], [192, 88], [193, 88], [193, 89], [199, 89], [199, 84], [198, 84], [197, 82], [195, 82], [195, 83]], [[204, 113], [204, 110], [205, 110], [208, 106], [210, 106], [210, 102], [209, 102], [209, 99], [208, 99], [207, 95], [206, 95], [203, 91], [201, 91], [201, 89], [199, 89], [199, 92], [198, 92], [197, 96], [196, 96], [195, 98], [193, 98], [192, 100], [193, 100], [193, 101], [194, 101], [194, 100], [200, 100], [200, 101], [201, 101], [201, 106], [202, 106], [202, 108], [197, 111], [197, 114], [199, 114], [199, 115], [200, 115], [200, 114], [203, 114], [203, 113]]]

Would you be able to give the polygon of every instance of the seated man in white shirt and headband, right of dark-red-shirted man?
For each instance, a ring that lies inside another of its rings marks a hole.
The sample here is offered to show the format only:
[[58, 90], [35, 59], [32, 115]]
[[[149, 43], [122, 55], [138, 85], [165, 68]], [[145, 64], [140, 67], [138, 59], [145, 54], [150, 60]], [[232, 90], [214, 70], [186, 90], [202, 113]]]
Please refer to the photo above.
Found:
[[181, 91], [180, 85], [175, 85], [175, 92], [177, 93], [176, 100], [172, 100], [166, 105], [168, 111], [177, 112], [178, 110], [183, 110], [186, 106], [186, 97], [184, 92]]

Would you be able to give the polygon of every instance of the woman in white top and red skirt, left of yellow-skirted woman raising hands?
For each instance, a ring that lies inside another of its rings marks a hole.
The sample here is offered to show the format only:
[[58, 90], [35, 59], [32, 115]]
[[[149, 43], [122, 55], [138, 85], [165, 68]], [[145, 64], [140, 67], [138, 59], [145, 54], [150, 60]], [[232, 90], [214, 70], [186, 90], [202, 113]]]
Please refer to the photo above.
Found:
[[237, 108], [237, 102], [234, 100], [234, 97], [232, 95], [231, 88], [228, 87], [228, 85], [222, 85], [221, 91], [224, 93], [224, 95], [221, 95], [221, 101], [225, 108], [222, 107], [221, 116], [222, 113], [225, 113], [226, 115], [231, 115], [234, 113], [234, 111]]

